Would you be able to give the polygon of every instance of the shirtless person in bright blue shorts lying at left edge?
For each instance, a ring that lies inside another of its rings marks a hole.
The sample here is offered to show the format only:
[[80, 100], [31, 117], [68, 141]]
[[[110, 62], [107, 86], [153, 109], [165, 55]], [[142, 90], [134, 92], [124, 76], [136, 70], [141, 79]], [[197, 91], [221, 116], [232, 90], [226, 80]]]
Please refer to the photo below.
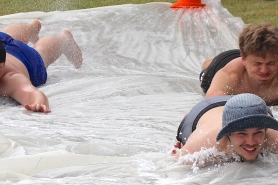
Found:
[[83, 59], [70, 31], [39, 39], [40, 29], [39, 20], [33, 20], [11, 24], [0, 32], [0, 96], [13, 98], [27, 110], [49, 113], [48, 98], [36, 88], [46, 82], [46, 68], [62, 54], [76, 68]]

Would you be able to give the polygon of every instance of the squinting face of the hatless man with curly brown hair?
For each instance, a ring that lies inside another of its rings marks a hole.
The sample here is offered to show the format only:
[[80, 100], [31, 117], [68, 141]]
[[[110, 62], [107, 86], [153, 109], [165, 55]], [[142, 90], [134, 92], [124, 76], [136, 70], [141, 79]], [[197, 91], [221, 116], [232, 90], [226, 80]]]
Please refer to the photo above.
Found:
[[271, 84], [278, 74], [278, 57], [268, 54], [266, 58], [255, 55], [242, 57], [248, 76], [259, 85]]

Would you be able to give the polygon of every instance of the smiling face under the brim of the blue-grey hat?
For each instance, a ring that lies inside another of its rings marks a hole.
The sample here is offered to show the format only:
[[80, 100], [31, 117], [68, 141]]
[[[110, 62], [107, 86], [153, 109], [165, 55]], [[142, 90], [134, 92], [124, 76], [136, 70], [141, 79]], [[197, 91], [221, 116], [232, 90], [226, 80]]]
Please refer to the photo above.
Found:
[[255, 161], [262, 149], [266, 130], [263, 128], [249, 128], [229, 135], [234, 151], [243, 161]]

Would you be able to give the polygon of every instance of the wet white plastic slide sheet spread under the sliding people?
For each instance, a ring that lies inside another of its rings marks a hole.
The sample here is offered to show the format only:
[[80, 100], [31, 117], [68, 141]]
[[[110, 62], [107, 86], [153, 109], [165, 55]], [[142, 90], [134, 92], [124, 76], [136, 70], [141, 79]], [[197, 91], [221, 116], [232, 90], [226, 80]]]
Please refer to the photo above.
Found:
[[[50, 114], [1, 97], [1, 184], [271, 184], [277, 156], [253, 164], [182, 165], [171, 149], [184, 114], [204, 94], [202, 62], [238, 48], [243, 21], [220, 1], [203, 9], [171, 3], [120, 5], [0, 17], [0, 28], [37, 18], [40, 36], [72, 31], [80, 69], [61, 57], [39, 87]], [[277, 116], [275, 107], [274, 116]], [[196, 163], [195, 163], [196, 164]]]

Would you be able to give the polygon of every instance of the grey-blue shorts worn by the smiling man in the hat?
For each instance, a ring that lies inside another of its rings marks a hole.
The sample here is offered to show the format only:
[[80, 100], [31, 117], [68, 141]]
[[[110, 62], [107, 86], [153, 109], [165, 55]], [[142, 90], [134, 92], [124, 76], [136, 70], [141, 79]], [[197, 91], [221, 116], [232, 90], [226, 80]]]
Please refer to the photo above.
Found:
[[197, 123], [202, 115], [210, 109], [224, 106], [231, 97], [233, 96], [214, 96], [195, 105], [187, 114], [187, 116], [182, 120], [177, 131], [177, 140], [184, 145], [188, 137], [196, 129]]

